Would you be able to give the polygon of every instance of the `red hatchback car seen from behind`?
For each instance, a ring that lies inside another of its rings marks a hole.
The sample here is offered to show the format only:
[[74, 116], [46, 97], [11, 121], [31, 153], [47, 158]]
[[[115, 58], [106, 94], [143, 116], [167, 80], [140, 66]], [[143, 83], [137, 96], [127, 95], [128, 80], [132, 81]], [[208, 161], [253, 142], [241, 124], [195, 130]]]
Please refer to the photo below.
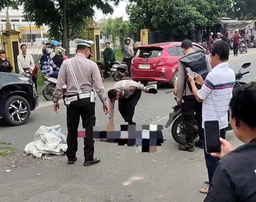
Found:
[[[136, 57], [132, 59], [132, 80], [144, 85], [150, 81], [168, 82], [173, 87], [174, 78], [178, 73], [179, 59], [184, 56], [182, 42], [155, 43], [140, 46]], [[195, 51], [204, 50], [193, 43]]]

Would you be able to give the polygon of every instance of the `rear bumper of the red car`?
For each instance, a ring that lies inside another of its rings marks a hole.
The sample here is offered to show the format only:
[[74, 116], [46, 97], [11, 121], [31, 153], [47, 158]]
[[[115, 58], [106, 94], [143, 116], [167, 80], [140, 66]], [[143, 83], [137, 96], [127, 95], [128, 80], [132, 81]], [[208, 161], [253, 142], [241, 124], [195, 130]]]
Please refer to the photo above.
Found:
[[134, 69], [132, 66], [132, 80], [135, 81], [158, 81], [158, 82], [172, 82], [174, 69], [170, 67], [157, 67], [156, 69]]

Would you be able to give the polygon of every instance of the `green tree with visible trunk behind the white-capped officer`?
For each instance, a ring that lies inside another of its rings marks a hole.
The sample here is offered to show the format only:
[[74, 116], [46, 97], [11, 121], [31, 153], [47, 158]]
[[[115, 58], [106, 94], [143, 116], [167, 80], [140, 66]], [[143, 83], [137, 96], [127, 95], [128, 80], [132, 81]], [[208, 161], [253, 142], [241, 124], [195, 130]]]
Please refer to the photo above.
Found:
[[[115, 5], [119, 0], [112, 0]], [[73, 31], [84, 25], [84, 20], [94, 16], [96, 7], [104, 14], [112, 13], [110, 1], [103, 0], [21, 0], [24, 17], [36, 22], [37, 26], [50, 27], [50, 36], [62, 39], [62, 45], [69, 53], [70, 27]]]

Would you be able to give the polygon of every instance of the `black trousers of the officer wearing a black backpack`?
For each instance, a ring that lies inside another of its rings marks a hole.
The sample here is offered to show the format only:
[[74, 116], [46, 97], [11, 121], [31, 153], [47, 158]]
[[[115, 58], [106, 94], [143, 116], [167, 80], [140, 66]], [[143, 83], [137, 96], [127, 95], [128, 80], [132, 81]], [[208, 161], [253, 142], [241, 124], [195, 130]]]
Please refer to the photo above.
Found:
[[196, 113], [196, 122], [199, 131], [199, 140], [203, 140], [202, 130], [202, 102], [197, 102], [194, 95], [184, 96], [184, 103], [181, 106], [182, 117], [185, 124], [186, 142], [192, 144], [196, 138], [194, 133], [194, 113]]

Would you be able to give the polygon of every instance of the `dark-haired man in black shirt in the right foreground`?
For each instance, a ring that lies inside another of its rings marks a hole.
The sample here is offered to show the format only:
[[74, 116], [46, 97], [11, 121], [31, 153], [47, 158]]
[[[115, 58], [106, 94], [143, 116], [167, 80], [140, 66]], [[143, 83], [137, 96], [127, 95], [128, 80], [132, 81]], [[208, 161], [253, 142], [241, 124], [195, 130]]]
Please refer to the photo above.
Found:
[[256, 82], [237, 90], [230, 101], [230, 124], [245, 144], [232, 149], [220, 139], [218, 162], [204, 202], [256, 202]]

